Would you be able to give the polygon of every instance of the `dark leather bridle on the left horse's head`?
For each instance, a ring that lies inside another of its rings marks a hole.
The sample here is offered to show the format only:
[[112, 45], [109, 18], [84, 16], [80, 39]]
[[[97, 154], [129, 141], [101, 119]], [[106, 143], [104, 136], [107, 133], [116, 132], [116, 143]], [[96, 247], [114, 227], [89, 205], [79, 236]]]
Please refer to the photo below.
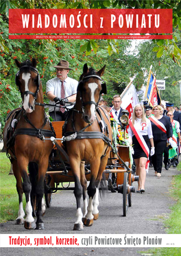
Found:
[[16, 82], [16, 85], [19, 86], [19, 91], [21, 92], [21, 89], [20, 89], [20, 84], [19, 84], [19, 73], [21, 72], [21, 70], [23, 68], [29, 68], [29, 69], [32, 69], [32, 71], [36, 72], [37, 73], [37, 88], [36, 88], [36, 92], [35, 93], [32, 93], [32, 91], [25, 91], [24, 93], [21, 93], [22, 97], [24, 95], [33, 95], [34, 96], [34, 100], [36, 101], [36, 98], [37, 98], [37, 95], [38, 95], [38, 91], [40, 89], [40, 74], [38, 73], [38, 70], [35, 68], [35, 67], [31, 67], [31, 66], [28, 66], [28, 65], [24, 65], [22, 67], [20, 67], [19, 71], [16, 73], [16, 78], [15, 78], [15, 82]]

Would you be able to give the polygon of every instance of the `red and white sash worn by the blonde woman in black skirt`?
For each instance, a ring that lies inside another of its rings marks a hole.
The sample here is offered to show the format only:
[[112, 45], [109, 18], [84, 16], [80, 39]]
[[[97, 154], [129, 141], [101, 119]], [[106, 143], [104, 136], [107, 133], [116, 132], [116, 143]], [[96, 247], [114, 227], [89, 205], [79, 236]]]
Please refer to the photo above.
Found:
[[146, 163], [146, 166], [145, 166], [145, 170], [148, 173], [149, 162], [150, 162], [149, 161], [149, 148], [147, 146], [147, 143], [146, 143], [145, 139], [141, 135], [141, 133], [134, 128], [131, 120], [129, 121], [129, 125], [130, 125], [130, 128], [132, 129], [132, 132], [134, 133], [138, 143], [140, 144], [141, 148], [143, 148], [143, 151], [145, 152], [145, 154], [147, 156], [147, 163]]

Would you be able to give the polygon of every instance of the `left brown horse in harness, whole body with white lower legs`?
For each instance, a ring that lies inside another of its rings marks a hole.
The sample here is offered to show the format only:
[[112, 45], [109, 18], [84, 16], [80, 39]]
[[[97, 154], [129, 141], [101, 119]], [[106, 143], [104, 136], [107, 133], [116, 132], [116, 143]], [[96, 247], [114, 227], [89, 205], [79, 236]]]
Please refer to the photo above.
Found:
[[[3, 131], [3, 143], [10, 155], [19, 194], [19, 216], [16, 224], [24, 223], [25, 229], [44, 229], [42, 220], [44, 180], [49, 154], [53, 148], [52, 142], [45, 137], [53, 136], [53, 132], [45, 109], [36, 105], [43, 104], [43, 87], [36, 69], [36, 60], [33, 59], [32, 62], [26, 60], [23, 63], [16, 60], [16, 65], [19, 67], [16, 85], [19, 86], [23, 104], [22, 108], [12, 110]], [[23, 192], [26, 198], [25, 221]], [[36, 194], [36, 224], [32, 216], [31, 193]]]

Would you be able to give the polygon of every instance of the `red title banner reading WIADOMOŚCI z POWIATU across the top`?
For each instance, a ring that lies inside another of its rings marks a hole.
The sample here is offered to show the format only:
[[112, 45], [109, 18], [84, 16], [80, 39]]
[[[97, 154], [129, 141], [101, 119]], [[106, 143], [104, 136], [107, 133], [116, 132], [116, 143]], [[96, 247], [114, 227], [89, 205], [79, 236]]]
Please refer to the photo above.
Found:
[[10, 34], [134, 33], [172, 38], [173, 31], [171, 9], [10, 9], [9, 15]]

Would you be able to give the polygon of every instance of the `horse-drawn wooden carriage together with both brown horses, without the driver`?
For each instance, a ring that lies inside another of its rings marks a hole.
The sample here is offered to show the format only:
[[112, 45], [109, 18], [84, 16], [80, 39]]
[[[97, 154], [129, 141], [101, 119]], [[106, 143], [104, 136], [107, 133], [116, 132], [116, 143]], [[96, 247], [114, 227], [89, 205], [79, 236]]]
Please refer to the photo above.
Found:
[[[25, 223], [25, 229], [44, 229], [43, 195], [49, 207], [51, 194], [59, 189], [70, 189], [69, 186], [65, 188], [64, 183], [74, 182], [77, 213], [73, 230], [82, 230], [83, 224], [91, 226], [99, 217], [98, 194], [99, 189], [104, 189], [101, 186], [104, 176], [109, 181], [110, 174], [115, 173], [115, 189], [123, 194], [123, 216], [126, 216], [135, 191], [132, 182], [138, 177], [132, 174], [128, 146], [112, 146], [109, 114], [104, 107], [98, 106], [101, 93], [106, 93], [106, 83], [101, 79], [106, 66], [96, 72], [84, 65], [75, 106], [69, 111], [68, 119], [51, 124], [44, 110], [46, 104], [43, 103], [36, 60], [15, 61], [19, 67], [16, 85], [23, 105], [8, 116], [3, 142], [12, 162], [19, 194], [16, 223]], [[58, 184], [62, 184], [62, 188]]]

